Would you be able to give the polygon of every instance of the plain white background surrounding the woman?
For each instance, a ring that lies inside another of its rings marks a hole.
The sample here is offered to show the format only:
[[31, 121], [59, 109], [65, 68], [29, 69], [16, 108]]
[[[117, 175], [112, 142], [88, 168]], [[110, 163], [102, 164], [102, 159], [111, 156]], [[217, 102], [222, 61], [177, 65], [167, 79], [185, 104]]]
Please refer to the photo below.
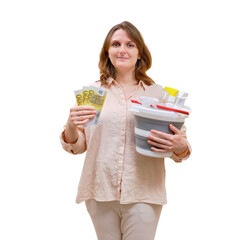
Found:
[[3, 0], [0, 3], [0, 239], [96, 239], [75, 204], [84, 155], [61, 148], [73, 91], [99, 79], [109, 29], [143, 34], [155, 82], [189, 93], [193, 153], [166, 159], [156, 239], [240, 239], [238, 1]]

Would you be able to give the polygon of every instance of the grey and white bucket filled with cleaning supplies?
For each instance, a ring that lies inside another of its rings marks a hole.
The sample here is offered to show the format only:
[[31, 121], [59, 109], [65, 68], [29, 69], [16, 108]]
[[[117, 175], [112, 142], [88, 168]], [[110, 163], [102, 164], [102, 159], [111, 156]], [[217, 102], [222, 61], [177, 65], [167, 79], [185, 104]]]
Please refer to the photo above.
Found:
[[[165, 89], [166, 95], [172, 96], [169, 94], [169, 89]], [[178, 90], [174, 92], [176, 93], [174, 98], [168, 96], [167, 103], [160, 103], [157, 98], [146, 96], [142, 96], [138, 100], [131, 100], [132, 105], [129, 110], [134, 112], [136, 151], [138, 153], [157, 158], [172, 155], [172, 152], [152, 151], [151, 145], [147, 142], [147, 136], [151, 134], [152, 129], [173, 134], [169, 125], [172, 124], [180, 130], [189, 116], [190, 108], [184, 106], [187, 93]]]

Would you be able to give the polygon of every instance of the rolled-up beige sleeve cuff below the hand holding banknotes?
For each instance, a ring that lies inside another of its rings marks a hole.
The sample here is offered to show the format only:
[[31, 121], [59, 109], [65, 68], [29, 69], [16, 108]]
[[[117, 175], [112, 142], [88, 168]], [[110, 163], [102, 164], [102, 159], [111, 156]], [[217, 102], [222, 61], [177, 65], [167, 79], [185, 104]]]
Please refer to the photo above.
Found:
[[78, 139], [75, 143], [65, 142], [65, 130], [66, 128], [64, 127], [64, 131], [60, 135], [60, 142], [62, 144], [63, 149], [71, 154], [84, 153], [87, 150], [84, 129], [78, 128]]

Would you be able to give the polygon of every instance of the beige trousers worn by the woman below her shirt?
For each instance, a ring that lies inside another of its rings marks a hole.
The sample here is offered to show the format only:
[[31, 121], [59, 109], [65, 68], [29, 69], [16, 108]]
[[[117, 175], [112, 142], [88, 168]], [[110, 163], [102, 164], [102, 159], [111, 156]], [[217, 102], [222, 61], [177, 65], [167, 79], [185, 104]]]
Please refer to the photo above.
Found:
[[162, 205], [86, 201], [98, 240], [154, 240]]

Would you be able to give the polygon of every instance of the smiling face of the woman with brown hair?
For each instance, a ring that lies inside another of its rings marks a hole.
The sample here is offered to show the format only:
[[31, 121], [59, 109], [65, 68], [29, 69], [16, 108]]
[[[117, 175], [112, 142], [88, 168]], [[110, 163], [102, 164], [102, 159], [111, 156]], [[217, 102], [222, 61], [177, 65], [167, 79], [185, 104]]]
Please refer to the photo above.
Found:
[[118, 29], [113, 33], [108, 57], [117, 72], [134, 71], [136, 62], [140, 59], [137, 45], [123, 29]]

